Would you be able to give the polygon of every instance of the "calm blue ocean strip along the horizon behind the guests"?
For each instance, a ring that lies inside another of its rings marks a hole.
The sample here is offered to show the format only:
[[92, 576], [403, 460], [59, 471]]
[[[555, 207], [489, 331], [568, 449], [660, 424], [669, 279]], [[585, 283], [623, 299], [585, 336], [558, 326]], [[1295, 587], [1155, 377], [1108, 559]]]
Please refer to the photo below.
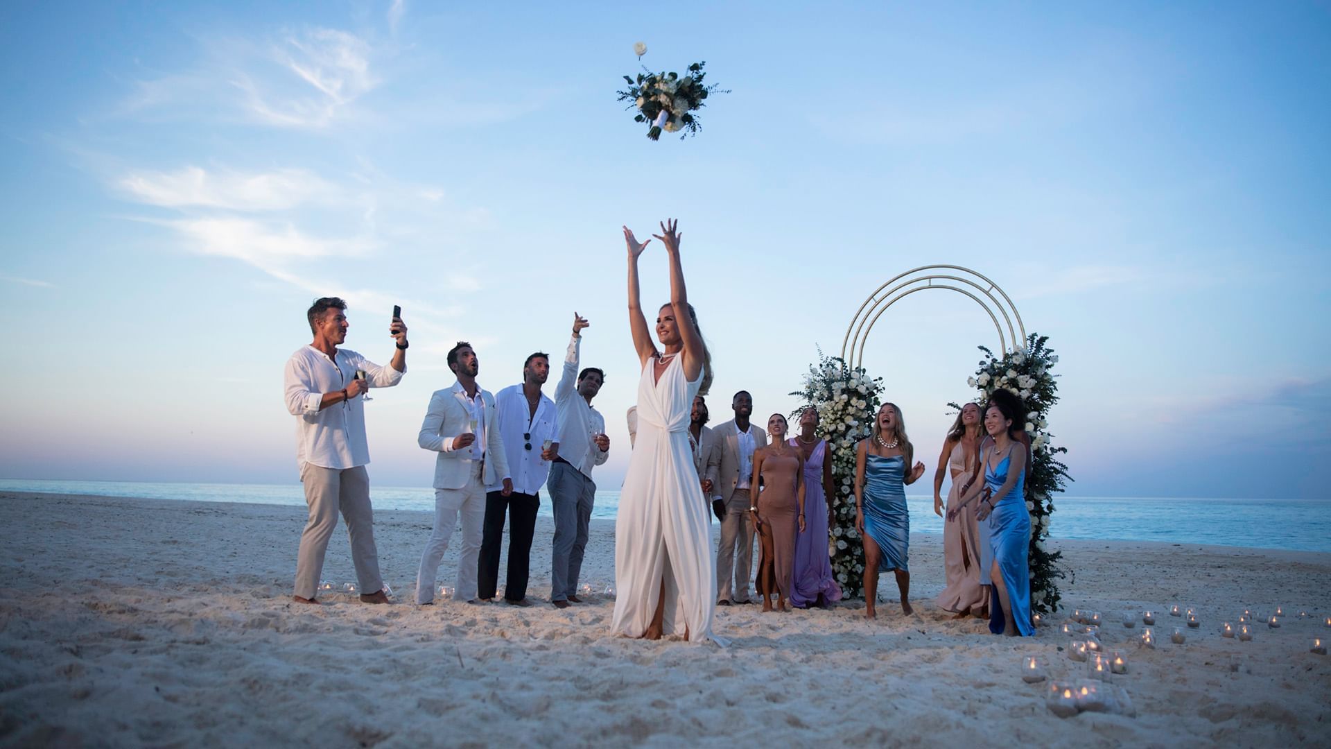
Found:
[[[138, 481], [56, 481], [0, 478], [0, 490], [105, 494], [205, 502], [254, 502], [305, 506], [299, 484], [170, 484]], [[434, 490], [421, 486], [371, 486], [377, 509], [433, 510]], [[942, 533], [932, 496], [908, 496], [910, 529]], [[596, 492], [592, 517], [614, 518], [619, 492]], [[1182, 497], [1074, 497], [1054, 500], [1054, 538], [1114, 538], [1173, 544], [1214, 544], [1259, 549], [1331, 552], [1331, 502], [1319, 500], [1234, 500]], [[542, 492], [540, 514], [550, 516]]]

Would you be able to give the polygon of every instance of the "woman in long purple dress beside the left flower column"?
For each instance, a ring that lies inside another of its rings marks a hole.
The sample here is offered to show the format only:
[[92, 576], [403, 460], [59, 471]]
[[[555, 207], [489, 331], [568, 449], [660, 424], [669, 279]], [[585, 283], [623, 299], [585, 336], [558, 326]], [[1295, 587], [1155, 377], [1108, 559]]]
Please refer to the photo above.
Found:
[[832, 526], [832, 461], [827, 440], [817, 438], [819, 412], [800, 412], [800, 433], [791, 445], [804, 457], [804, 532], [795, 537], [795, 576], [791, 604], [800, 609], [811, 605], [828, 608], [841, 600], [841, 586], [832, 576], [828, 556], [828, 528]]

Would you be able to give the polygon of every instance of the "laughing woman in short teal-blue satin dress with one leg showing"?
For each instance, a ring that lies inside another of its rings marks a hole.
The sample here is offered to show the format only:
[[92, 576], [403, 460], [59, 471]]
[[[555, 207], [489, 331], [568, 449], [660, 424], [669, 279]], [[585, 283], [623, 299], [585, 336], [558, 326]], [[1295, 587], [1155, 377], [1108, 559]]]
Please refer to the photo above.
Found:
[[864, 538], [865, 616], [874, 618], [878, 602], [878, 572], [893, 570], [901, 592], [901, 612], [910, 608], [910, 572], [906, 550], [910, 544], [910, 514], [906, 512], [906, 484], [924, 474], [916, 462], [914, 446], [906, 438], [901, 409], [885, 402], [873, 420], [873, 434], [860, 440], [855, 450], [855, 529]]

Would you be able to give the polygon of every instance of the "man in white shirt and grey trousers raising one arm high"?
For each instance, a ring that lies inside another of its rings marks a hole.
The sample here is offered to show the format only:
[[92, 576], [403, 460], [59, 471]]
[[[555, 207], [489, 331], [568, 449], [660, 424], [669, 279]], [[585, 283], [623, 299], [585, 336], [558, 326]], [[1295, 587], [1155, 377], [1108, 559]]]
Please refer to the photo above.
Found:
[[[564, 355], [564, 371], [555, 386], [559, 412], [559, 436], [550, 466], [550, 505], [555, 510], [554, 552], [550, 562], [550, 602], [567, 609], [578, 600], [578, 576], [591, 526], [591, 509], [596, 498], [592, 466], [610, 457], [606, 418], [591, 406], [600, 392], [606, 373], [595, 367], [578, 372], [582, 331], [590, 325], [574, 312], [574, 337]], [[575, 378], [576, 374], [576, 389]]]

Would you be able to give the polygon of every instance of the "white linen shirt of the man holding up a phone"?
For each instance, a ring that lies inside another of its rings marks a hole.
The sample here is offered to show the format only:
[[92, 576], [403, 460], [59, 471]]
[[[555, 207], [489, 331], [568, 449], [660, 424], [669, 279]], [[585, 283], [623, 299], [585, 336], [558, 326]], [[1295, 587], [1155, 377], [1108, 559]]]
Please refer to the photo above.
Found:
[[346, 388], [357, 369], [365, 369], [371, 389], [391, 388], [403, 374], [345, 348], [337, 349], [337, 361], [311, 345], [301, 347], [286, 360], [282, 385], [286, 409], [295, 417], [295, 464], [299, 469], [306, 462], [334, 469], [370, 462], [370, 446], [365, 440], [365, 398], [357, 396], [319, 410], [323, 393]]

